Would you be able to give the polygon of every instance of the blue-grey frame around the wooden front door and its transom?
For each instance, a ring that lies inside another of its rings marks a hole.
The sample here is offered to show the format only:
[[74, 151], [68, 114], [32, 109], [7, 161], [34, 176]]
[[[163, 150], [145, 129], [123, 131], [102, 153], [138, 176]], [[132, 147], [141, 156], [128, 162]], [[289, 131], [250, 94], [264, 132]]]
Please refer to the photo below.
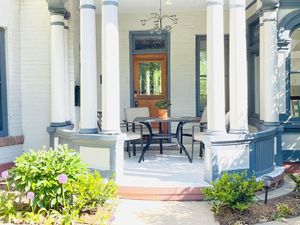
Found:
[[[137, 36], [162, 36], [165, 38], [165, 40], [167, 41], [166, 44], [166, 49], [165, 50], [147, 50], [147, 51], [143, 51], [143, 50], [139, 50], [139, 51], [135, 51], [134, 50], [134, 38]], [[167, 82], [167, 98], [171, 101], [171, 75], [170, 75], [170, 33], [169, 32], [164, 32], [160, 35], [158, 34], [150, 34], [149, 31], [129, 31], [129, 69], [130, 69], [130, 76], [129, 76], [129, 84], [130, 84], [130, 107], [134, 107], [134, 83], [133, 83], [133, 76], [134, 76], [134, 61], [133, 61], [133, 56], [135, 54], [158, 54], [158, 53], [166, 53], [167, 55], [167, 60], [166, 60], [166, 82]], [[170, 111], [170, 107], [169, 107], [169, 114], [171, 115], [171, 111]]]

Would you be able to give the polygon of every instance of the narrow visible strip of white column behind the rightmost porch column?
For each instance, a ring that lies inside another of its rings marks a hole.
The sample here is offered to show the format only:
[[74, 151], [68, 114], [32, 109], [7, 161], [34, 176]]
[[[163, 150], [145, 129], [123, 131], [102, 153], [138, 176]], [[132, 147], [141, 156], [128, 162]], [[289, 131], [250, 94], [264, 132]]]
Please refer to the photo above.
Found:
[[263, 14], [259, 18], [259, 119], [263, 121], [265, 119], [265, 104], [264, 104], [264, 16]]

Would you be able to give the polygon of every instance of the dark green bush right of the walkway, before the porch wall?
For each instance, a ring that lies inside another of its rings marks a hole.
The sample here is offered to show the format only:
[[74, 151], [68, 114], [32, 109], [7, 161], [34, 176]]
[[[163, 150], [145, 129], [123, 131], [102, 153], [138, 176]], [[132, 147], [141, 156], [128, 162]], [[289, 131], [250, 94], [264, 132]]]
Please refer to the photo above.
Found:
[[228, 206], [238, 211], [245, 211], [254, 200], [255, 192], [262, 189], [263, 183], [246, 172], [225, 173], [219, 180], [212, 182], [212, 187], [204, 189], [204, 195], [213, 202], [213, 210], [218, 213], [221, 206]]

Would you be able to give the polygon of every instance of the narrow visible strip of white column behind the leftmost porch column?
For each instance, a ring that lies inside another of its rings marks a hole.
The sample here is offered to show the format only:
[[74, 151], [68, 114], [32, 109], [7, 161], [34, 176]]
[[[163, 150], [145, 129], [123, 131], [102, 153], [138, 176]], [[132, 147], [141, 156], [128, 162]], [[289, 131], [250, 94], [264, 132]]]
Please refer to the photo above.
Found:
[[65, 45], [65, 115], [66, 123], [71, 124], [70, 114], [70, 74], [69, 74], [69, 15], [65, 16], [64, 45]]

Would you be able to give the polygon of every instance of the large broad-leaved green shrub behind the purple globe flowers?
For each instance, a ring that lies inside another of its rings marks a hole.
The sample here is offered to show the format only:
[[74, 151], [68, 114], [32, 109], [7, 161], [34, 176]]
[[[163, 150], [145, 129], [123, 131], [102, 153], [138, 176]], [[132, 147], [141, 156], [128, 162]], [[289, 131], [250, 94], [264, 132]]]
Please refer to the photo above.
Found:
[[[18, 157], [11, 175], [18, 191], [24, 195], [29, 191], [35, 193], [34, 208], [58, 209], [64, 204], [58, 176], [66, 174], [68, 183], [73, 184], [86, 172], [86, 166], [74, 150], [59, 146], [57, 150], [41, 149]], [[71, 204], [72, 193], [66, 191], [65, 199]]]

